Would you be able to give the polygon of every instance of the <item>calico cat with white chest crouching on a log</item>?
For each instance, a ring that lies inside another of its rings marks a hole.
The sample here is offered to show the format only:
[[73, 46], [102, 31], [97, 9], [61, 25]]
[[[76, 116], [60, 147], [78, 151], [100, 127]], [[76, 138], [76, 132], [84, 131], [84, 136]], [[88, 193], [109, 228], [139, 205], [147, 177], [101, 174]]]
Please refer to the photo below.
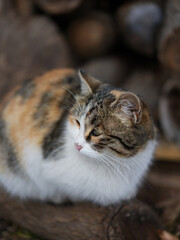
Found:
[[0, 111], [0, 183], [21, 199], [114, 204], [134, 196], [151, 163], [145, 103], [82, 71], [27, 81]]

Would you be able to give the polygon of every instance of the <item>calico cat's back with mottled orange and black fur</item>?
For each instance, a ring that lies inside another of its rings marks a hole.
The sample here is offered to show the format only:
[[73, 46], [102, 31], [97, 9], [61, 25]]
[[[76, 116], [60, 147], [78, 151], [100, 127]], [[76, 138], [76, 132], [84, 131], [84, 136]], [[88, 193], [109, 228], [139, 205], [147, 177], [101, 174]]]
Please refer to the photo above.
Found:
[[[79, 80], [72, 69], [53, 70], [25, 82], [2, 101], [0, 148], [6, 158], [23, 159], [23, 146], [34, 144], [51, 150], [51, 138], [61, 131], [67, 111], [74, 102]], [[12, 154], [11, 154], [12, 153]], [[4, 155], [3, 154], [3, 155]], [[2, 158], [2, 156], [1, 156]]]

